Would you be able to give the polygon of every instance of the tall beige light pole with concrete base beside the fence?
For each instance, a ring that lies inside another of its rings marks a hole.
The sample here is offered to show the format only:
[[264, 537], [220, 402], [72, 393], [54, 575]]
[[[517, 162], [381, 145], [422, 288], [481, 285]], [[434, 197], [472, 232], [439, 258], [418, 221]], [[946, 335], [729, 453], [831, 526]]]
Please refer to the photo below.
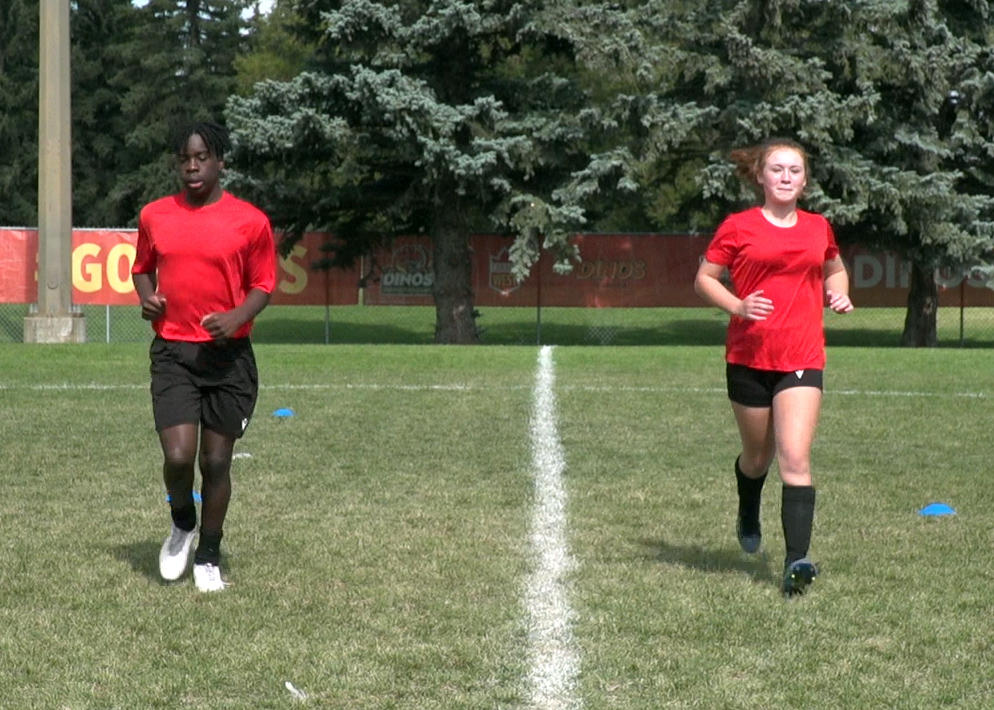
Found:
[[38, 309], [24, 319], [26, 343], [82, 343], [86, 320], [72, 312], [72, 137], [69, 0], [39, 3]]

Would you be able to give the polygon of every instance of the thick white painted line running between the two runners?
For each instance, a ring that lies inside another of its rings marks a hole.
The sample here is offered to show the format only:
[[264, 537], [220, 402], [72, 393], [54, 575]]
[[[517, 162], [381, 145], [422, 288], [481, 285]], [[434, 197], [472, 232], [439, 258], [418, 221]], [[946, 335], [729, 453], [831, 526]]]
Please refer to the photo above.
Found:
[[566, 459], [556, 422], [552, 347], [539, 351], [531, 419], [535, 501], [531, 523], [534, 570], [528, 578], [528, 707], [559, 710], [581, 707], [576, 695], [580, 656], [573, 640], [573, 611], [567, 594], [572, 568], [566, 542]]

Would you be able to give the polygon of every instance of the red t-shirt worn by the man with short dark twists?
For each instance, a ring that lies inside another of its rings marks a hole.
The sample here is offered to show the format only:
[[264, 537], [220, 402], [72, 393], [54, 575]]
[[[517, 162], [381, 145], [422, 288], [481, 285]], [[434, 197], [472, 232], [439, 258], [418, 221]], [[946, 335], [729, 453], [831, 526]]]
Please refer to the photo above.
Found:
[[[194, 207], [182, 194], [147, 204], [138, 218], [133, 274], [157, 273], [165, 315], [152, 323], [167, 340], [206, 342], [200, 325], [208, 313], [230, 311], [257, 288], [276, 285], [276, 247], [269, 218], [225, 192], [217, 202]], [[243, 338], [252, 321], [233, 337]]]

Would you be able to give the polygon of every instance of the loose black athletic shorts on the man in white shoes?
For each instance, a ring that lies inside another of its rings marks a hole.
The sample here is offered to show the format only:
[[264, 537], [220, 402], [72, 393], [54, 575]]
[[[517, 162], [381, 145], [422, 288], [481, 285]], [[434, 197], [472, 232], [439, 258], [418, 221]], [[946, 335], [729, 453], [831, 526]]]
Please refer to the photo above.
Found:
[[156, 337], [149, 348], [155, 430], [199, 423], [239, 438], [259, 393], [259, 373], [248, 338], [223, 344]]

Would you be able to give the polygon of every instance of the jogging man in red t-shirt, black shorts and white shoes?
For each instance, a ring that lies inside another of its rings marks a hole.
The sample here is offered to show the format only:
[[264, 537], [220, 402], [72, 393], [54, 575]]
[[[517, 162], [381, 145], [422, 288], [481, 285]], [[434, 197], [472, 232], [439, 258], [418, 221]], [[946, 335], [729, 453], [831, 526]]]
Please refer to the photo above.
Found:
[[155, 331], [152, 413], [172, 516], [159, 572], [172, 581], [186, 571], [199, 463], [193, 578], [199, 590], [212, 592], [227, 585], [220, 546], [231, 459], [255, 408], [258, 372], [249, 336], [276, 284], [276, 249], [266, 215], [221, 187], [230, 148], [222, 126], [184, 126], [173, 148], [183, 189], [142, 208], [132, 279], [142, 317]]

